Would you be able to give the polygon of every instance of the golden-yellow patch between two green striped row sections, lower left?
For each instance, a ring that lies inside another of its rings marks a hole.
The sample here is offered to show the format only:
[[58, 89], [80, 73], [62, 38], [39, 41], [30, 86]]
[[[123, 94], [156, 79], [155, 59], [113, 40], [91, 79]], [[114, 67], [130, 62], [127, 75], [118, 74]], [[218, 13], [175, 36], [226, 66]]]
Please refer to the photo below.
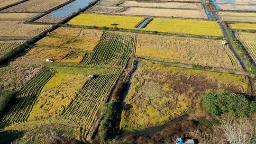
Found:
[[41, 91], [28, 120], [60, 117], [87, 80], [82, 74], [56, 73]]

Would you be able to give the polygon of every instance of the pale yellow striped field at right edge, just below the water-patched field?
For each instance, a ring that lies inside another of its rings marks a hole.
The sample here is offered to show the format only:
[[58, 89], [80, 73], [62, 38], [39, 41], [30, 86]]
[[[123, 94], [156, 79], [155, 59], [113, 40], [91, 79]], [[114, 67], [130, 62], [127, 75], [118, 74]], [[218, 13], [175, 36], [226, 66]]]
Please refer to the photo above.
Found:
[[245, 12], [218, 12], [224, 21], [256, 22], [256, 13]]

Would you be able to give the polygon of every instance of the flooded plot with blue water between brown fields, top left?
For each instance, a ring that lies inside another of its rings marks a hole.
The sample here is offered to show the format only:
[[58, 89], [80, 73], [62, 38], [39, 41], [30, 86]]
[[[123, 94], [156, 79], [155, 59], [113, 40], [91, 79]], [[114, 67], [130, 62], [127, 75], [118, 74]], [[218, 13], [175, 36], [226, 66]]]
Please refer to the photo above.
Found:
[[36, 22], [59, 23], [65, 18], [71, 16], [73, 12], [77, 12], [79, 9], [87, 7], [92, 1], [93, 0], [75, 0], [65, 5], [64, 7], [57, 9], [42, 18], [37, 19]]

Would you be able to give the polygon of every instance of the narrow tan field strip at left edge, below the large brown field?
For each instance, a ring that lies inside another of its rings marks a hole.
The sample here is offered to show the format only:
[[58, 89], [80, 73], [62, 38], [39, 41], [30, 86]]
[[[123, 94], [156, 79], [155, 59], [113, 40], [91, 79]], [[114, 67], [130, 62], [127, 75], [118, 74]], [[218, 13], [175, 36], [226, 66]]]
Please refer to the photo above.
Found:
[[0, 13], [0, 19], [28, 20], [40, 15], [40, 13]]

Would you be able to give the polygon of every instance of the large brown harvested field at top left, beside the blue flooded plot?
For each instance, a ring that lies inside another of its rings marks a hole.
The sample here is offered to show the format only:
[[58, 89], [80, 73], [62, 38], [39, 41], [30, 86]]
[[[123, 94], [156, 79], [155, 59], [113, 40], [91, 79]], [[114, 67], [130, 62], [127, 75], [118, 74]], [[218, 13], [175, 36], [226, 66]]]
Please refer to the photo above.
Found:
[[12, 12], [45, 12], [53, 9], [68, 0], [28, 0], [2, 11]]

